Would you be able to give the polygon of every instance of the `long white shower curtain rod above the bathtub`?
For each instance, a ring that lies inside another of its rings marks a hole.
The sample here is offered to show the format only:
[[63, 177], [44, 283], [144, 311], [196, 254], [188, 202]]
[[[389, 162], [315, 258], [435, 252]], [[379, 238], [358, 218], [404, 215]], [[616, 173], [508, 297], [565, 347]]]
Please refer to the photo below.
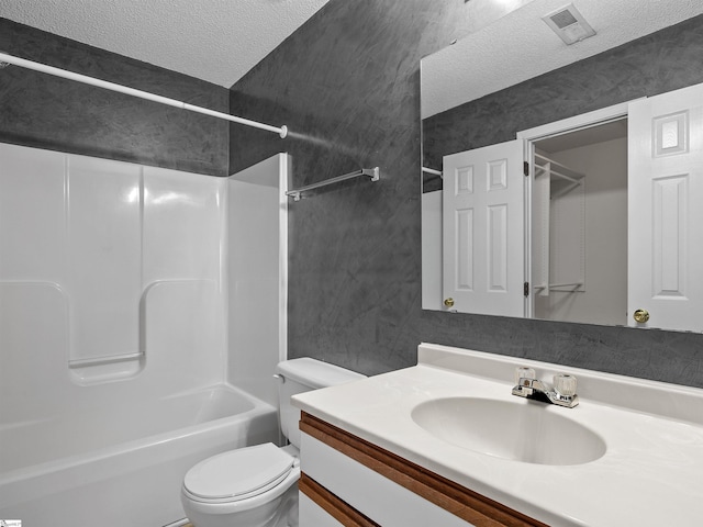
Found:
[[108, 82], [107, 80], [100, 80], [93, 77], [88, 77], [87, 75], [75, 74], [66, 69], [55, 68], [53, 66], [47, 66], [45, 64], [34, 63], [32, 60], [26, 60], [24, 58], [14, 57], [12, 55], [8, 55], [7, 53], [0, 52], [0, 63], [13, 64], [22, 68], [33, 69], [35, 71], [54, 75], [56, 77], [63, 77], [69, 80], [76, 80], [85, 85], [104, 88], [105, 90], [111, 90], [120, 93], [125, 93], [127, 96], [138, 97], [140, 99], [146, 99], [149, 101], [159, 102], [161, 104], [180, 108], [182, 110], [190, 110], [191, 112], [202, 113], [205, 115], [210, 115], [212, 117], [224, 119], [226, 121], [244, 124], [246, 126], [254, 126], [255, 128], [266, 130], [268, 132], [276, 132], [278, 135], [280, 135], [281, 138], [284, 138], [288, 135], [288, 127], [284, 125], [281, 127], [277, 127], [277, 126], [270, 126], [268, 124], [257, 123], [256, 121], [250, 121], [244, 117], [237, 117], [236, 115], [230, 115], [228, 113], [216, 112], [214, 110], [209, 110], [207, 108], [196, 106], [194, 104], [177, 101], [176, 99], [169, 99], [168, 97], [149, 93], [148, 91], [136, 90], [134, 88], [129, 88], [126, 86], [115, 85], [114, 82]]

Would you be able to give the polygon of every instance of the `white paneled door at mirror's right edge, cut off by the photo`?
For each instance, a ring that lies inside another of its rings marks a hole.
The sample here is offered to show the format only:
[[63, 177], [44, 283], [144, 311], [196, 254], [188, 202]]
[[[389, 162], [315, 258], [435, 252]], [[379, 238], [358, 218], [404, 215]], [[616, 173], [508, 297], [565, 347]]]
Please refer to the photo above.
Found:
[[628, 128], [628, 324], [703, 330], [703, 85], [633, 102]]

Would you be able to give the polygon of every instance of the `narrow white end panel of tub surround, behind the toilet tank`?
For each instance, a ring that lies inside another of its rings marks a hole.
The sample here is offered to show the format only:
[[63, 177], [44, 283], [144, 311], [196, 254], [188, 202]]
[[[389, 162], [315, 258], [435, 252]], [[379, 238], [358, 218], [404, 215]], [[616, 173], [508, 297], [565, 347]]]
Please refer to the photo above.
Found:
[[279, 154], [227, 180], [228, 379], [276, 406], [288, 337], [288, 162]]

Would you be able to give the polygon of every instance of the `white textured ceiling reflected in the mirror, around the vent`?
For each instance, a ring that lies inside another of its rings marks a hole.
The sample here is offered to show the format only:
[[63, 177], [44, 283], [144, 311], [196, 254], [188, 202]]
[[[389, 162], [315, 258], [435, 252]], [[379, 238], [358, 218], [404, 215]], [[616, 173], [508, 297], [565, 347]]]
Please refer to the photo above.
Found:
[[[542, 16], [571, 2], [596, 35], [567, 46]], [[532, 0], [423, 58], [422, 116], [432, 116], [702, 12], [702, 0]]]

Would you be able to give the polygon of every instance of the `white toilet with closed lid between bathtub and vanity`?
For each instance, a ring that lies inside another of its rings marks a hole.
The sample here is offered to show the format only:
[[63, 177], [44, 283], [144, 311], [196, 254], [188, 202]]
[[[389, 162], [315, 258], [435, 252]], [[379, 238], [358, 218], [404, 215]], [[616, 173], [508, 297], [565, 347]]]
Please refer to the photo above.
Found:
[[196, 527], [298, 527], [300, 411], [290, 397], [365, 375], [310, 358], [286, 360], [276, 371], [281, 431], [290, 445], [238, 448], [190, 469], [180, 498]]

